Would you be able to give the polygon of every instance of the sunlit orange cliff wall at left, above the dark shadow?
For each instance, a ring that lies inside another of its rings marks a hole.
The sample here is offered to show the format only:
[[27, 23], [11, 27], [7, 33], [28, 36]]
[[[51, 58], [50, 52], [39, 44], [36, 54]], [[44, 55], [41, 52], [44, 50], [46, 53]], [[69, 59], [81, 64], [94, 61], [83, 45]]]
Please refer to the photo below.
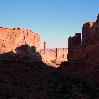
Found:
[[40, 50], [40, 36], [31, 30], [21, 28], [3, 28], [0, 27], [0, 53], [13, 51], [21, 45], [35, 47], [36, 52]]

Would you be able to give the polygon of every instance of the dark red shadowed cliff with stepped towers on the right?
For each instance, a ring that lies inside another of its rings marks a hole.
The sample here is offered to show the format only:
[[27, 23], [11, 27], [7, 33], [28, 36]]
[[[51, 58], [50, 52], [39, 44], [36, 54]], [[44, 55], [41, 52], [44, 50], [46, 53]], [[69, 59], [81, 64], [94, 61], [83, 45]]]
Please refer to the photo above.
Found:
[[81, 33], [68, 38], [68, 60], [99, 61], [99, 15], [96, 22], [87, 22]]

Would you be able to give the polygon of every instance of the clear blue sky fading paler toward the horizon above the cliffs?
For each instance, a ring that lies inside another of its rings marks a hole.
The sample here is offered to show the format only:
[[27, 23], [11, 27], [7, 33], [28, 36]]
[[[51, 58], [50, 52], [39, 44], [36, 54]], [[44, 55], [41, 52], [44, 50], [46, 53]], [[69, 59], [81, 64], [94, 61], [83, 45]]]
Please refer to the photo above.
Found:
[[38, 32], [41, 47], [67, 47], [68, 37], [95, 21], [99, 0], [0, 0], [0, 26]]

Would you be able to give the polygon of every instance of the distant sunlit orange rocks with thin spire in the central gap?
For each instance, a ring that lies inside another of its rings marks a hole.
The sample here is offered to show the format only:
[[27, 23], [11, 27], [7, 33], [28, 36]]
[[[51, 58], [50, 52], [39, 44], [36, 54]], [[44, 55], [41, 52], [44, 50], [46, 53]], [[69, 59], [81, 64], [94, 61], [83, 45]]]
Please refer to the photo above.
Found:
[[54, 48], [48, 49], [46, 42], [44, 42], [44, 50], [40, 51], [42, 61], [48, 65], [55, 66], [60, 65], [61, 62], [67, 61], [67, 48]]

